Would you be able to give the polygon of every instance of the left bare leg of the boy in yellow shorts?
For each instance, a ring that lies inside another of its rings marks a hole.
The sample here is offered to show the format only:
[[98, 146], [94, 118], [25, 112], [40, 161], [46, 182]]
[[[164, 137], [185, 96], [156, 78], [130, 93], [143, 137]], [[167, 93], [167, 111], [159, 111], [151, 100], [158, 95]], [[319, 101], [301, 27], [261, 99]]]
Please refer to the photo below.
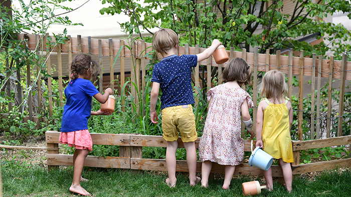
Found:
[[169, 187], [174, 187], [177, 183], [177, 178], [175, 177], [175, 151], [177, 151], [178, 142], [177, 141], [167, 141], [166, 149], [166, 164], [168, 171], [168, 178], [166, 178], [166, 183]]

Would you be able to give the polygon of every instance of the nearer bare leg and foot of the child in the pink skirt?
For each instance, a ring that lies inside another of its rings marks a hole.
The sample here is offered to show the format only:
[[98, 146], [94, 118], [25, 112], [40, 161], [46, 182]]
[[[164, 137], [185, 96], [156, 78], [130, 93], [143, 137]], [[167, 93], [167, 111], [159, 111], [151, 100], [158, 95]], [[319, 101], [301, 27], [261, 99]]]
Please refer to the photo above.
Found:
[[70, 191], [74, 193], [79, 193], [81, 195], [90, 196], [90, 193], [80, 185], [80, 178], [83, 170], [84, 160], [85, 160], [85, 157], [87, 157], [88, 153], [89, 153], [89, 150], [87, 149], [76, 149], [74, 152], [74, 155], [76, 154], [76, 156], [74, 156], [74, 159], [73, 159], [74, 171], [73, 171], [73, 181], [72, 181], [72, 185], [70, 186]]

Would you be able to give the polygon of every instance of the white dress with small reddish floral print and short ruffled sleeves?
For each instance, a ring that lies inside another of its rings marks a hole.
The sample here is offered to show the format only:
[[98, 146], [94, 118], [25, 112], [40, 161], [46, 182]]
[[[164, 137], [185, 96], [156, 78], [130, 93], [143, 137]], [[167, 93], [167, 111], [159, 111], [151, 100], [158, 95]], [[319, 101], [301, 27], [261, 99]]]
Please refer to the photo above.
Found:
[[223, 84], [207, 92], [211, 99], [203, 135], [199, 143], [199, 159], [221, 165], [239, 165], [244, 160], [244, 140], [241, 138], [241, 104], [252, 98], [241, 87], [231, 88]]

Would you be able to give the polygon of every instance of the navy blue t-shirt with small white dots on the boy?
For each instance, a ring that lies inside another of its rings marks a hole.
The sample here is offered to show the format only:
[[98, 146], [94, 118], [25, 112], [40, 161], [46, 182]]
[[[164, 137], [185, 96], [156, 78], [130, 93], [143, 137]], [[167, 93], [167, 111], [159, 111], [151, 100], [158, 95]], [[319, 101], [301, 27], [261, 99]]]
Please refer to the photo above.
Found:
[[197, 55], [174, 54], [164, 57], [153, 66], [151, 81], [160, 84], [161, 109], [195, 103], [191, 68], [196, 67], [197, 63]]

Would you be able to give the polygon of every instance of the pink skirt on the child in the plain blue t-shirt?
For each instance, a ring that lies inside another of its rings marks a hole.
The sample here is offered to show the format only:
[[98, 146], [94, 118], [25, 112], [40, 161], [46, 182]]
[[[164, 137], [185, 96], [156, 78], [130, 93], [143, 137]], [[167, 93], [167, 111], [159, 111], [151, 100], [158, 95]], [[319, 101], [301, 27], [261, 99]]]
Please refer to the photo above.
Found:
[[93, 150], [93, 141], [88, 129], [76, 130], [72, 132], [61, 132], [60, 143], [68, 144], [70, 147], [76, 149], [88, 149]]

